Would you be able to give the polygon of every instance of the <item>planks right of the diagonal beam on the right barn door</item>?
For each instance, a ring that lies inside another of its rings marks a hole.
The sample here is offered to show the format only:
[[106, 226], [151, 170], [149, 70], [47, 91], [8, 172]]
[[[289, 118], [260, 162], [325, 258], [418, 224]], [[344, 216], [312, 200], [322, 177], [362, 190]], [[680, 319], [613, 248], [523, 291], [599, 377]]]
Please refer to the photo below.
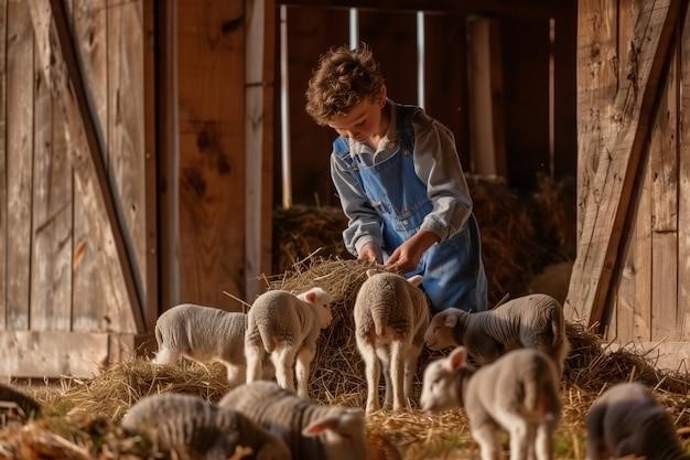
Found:
[[[639, 6], [622, 6], [627, 7], [618, 12], [619, 40], [625, 43], [630, 36], [627, 19]], [[683, 21], [679, 22], [682, 25]], [[659, 82], [658, 106], [639, 168], [637, 203], [606, 331], [610, 339], [617, 338], [623, 343], [690, 341], [687, 18], [684, 23], [682, 34], [677, 33], [673, 40], [668, 67]]]

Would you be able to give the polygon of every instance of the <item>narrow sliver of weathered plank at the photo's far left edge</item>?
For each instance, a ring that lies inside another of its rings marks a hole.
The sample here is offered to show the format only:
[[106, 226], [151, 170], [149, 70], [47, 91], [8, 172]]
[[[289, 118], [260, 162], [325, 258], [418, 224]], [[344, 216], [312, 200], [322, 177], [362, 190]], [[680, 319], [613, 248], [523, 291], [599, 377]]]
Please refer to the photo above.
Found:
[[[8, 1], [0, 0], [0, 36], [8, 36]], [[0, 171], [7, 171], [7, 40], [0, 40]], [[7, 175], [0, 174], [0, 216], [8, 215]], [[7, 260], [7, 220], [0, 218], [0, 260]], [[7, 264], [0, 264], [0, 331], [7, 325]]]

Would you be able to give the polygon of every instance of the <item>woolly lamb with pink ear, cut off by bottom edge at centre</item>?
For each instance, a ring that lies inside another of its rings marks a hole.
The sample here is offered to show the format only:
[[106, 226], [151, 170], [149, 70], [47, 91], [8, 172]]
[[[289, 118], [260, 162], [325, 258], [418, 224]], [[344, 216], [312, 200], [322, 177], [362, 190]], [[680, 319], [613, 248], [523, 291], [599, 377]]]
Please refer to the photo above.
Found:
[[367, 458], [359, 408], [315, 405], [267, 381], [240, 385], [226, 393], [218, 405], [245, 414], [284, 439], [294, 459]]

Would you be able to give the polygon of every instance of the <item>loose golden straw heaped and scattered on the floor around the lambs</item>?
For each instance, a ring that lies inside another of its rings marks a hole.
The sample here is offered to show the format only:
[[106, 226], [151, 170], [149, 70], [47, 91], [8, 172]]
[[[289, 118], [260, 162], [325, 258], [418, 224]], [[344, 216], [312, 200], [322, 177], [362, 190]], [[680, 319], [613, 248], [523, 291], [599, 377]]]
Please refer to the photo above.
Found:
[[[294, 266], [271, 287], [300, 291], [321, 286], [333, 296], [334, 321], [320, 339], [311, 396], [321, 404], [364, 406], [363, 364], [353, 340], [352, 307], [368, 266], [355, 260], [317, 259]], [[583, 459], [583, 420], [596, 395], [616, 382], [635, 379], [653, 387], [679, 432], [690, 431], [690, 379], [657, 370], [649, 355], [610, 351], [597, 335], [568, 324], [572, 351], [562, 384], [563, 418], [557, 434], [558, 458]], [[429, 361], [424, 355], [420, 371]], [[88, 381], [65, 379], [60, 387], [32, 386], [44, 416], [25, 426], [11, 417], [0, 430], [0, 459], [149, 459], [170, 458], [155, 446], [128, 438], [118, 428], [125, 411], [140, 398], [163, 392], [201, 395], [217, 402], [227, 391], [225, 370], [190, 362], [154, 366], [145, 357], [120, 363]], [[419, 394], [419, 379], [416, 393]], [[367, 417], [370, 449], [379, 459], [476, 458], [461, 410], [429, 416], [416, 408]], [[684, 442], [688, 439], [684, 438]]]

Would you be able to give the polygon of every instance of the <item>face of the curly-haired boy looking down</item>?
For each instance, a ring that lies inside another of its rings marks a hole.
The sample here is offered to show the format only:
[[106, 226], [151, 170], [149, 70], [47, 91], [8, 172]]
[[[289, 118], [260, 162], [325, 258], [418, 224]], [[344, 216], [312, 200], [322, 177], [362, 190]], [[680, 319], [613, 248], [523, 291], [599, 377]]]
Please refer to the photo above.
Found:
[[346, 138], [357, 142], [366, 142], [379, 132], [381, 125], [381, 109], [386, 105], [386, 88], [374, 98], [365, 98], [354, 106], [347, 114], [336, 116], [328, 121], [328, 126]]

